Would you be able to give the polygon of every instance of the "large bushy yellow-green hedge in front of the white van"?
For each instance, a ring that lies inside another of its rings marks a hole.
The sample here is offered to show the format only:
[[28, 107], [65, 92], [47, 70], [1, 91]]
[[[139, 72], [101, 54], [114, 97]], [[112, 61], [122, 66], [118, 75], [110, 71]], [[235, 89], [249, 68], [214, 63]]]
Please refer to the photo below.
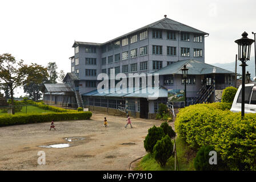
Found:
[[232, 113], [226, 103], [197, 104], [181, 109], [178, 135], [190, 147], [213, 146], [230, 169], [256, 169], [256, 114]]

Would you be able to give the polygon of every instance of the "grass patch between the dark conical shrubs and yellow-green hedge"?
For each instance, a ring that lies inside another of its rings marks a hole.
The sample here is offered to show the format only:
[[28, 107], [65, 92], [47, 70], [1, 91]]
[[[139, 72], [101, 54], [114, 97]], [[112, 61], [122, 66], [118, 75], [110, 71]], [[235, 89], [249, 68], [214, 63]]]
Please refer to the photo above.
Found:
[[[174, 141], [173, 141], [174, 142]], [[180, 171], [194, 171], [193, 159], [197, 155], [196, 151], [191, 150], [186, 142], [181, 139], [175, 139], [177, 145], [177, 158]], [[145, 155], [141, 162], [138, 163], [135, 170], [138, 171], [174, 171], [174, 156], [171, 156], [166, 163], [166, 166], [162, 168], [155, 161], [151, 154]]]

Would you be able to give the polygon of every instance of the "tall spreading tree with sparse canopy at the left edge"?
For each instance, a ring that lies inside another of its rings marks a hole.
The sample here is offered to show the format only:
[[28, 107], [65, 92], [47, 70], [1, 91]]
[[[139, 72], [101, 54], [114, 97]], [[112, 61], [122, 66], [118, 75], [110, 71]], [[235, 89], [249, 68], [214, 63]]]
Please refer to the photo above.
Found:
[[[10, 53], [0, 55], [0, 83], [7, 86], [11, 105], [14, 105], [14, 89], [23, 84], [26, 77], [27, 65], [23, 60], [17, 61]], [[12, 109], [14, 114], [14, 109]]]

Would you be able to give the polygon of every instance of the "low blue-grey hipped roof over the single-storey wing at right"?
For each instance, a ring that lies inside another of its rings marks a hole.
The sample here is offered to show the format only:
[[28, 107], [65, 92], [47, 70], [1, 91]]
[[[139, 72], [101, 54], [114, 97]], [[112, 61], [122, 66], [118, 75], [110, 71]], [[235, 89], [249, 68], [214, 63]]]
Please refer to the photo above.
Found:
[[182, 60], [177, 61], [173, 64], [169, 64], [164, 68], [159, 69], [153, 73], [158, 73], [159, 75], [173, 75], [173, 74], [182, 74], [181, 68], [186, 64], [186, 67], [189, 68], [187, 75], [206, 75], [211, 73], [227, 73], [234, 74], [234, 72], [215, 67], [214, 65], [202, 63], [197, 60]]

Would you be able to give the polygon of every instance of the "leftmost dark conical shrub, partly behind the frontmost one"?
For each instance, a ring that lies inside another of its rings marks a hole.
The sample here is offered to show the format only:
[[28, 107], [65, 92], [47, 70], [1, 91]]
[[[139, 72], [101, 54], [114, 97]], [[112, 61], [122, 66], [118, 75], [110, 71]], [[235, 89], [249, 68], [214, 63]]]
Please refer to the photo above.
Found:
[[153, 153], [153, 148], [157, 140], [161, 140], [165, 137], [165, 133], [161, 127], [153, 126], [148, 130], [148, 134], [144, 140], [144, 148], [147, 152]]

